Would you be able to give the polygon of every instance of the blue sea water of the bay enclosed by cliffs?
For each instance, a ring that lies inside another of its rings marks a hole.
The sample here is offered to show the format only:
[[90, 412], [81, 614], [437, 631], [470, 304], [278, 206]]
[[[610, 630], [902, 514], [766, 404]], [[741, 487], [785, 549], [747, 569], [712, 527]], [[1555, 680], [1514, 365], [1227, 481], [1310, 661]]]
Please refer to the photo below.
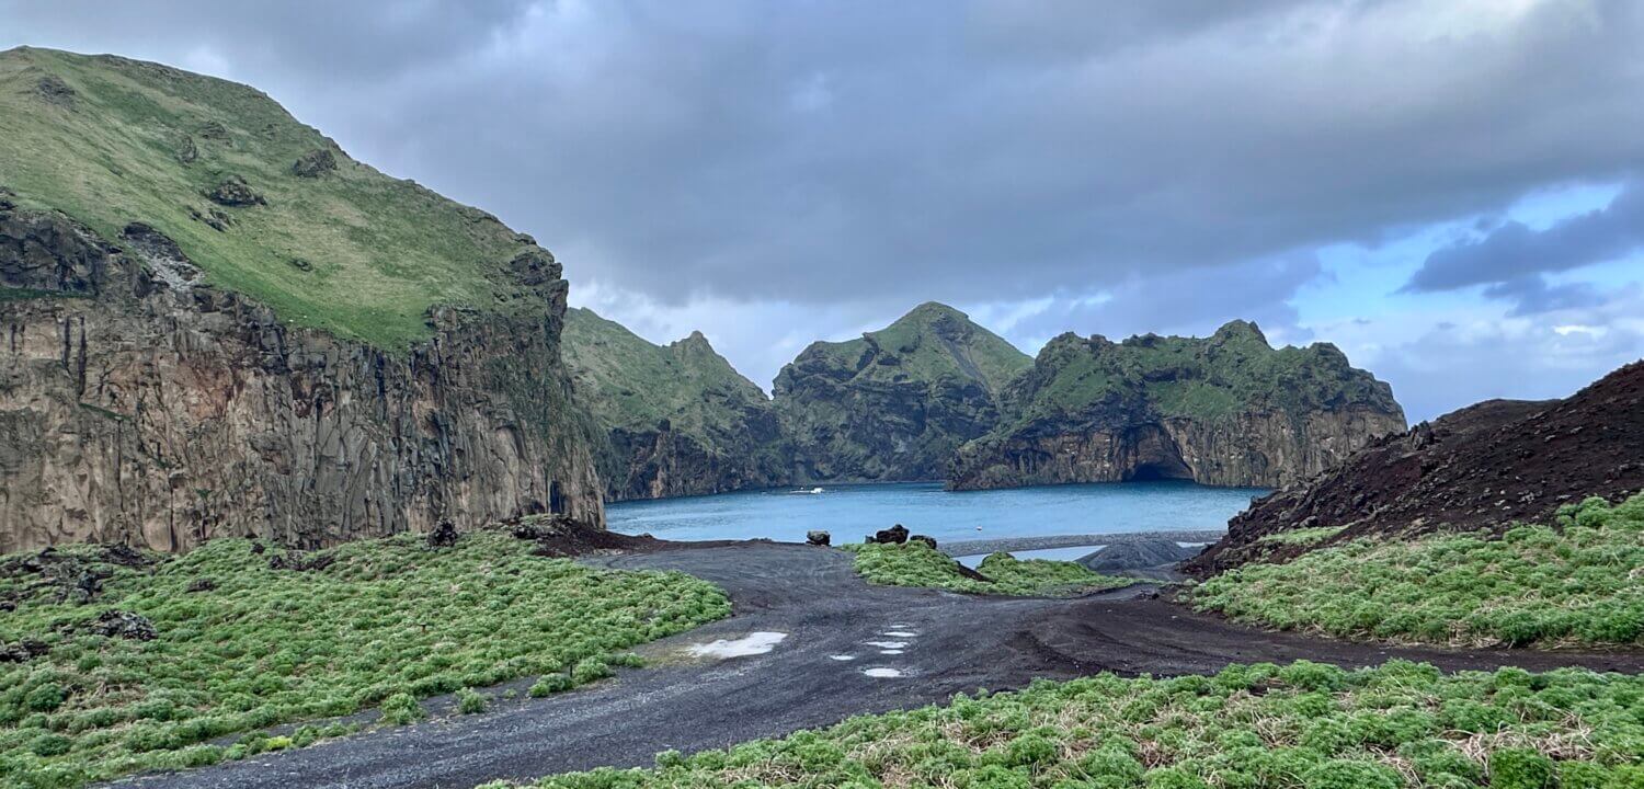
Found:
[[[799, 491], [804, 490], [804, 491]], [[822, 529], [835, 544], [901, 523], [940, 542], [958, 539], [1221, 529], [1261, 488], [1208, 488], [1190, 482], [1111, 482], [952, 493], [940, 483], [824, 485], [712, 496], [620, 501], [613, 531], [663, 539], [801, 542]]]

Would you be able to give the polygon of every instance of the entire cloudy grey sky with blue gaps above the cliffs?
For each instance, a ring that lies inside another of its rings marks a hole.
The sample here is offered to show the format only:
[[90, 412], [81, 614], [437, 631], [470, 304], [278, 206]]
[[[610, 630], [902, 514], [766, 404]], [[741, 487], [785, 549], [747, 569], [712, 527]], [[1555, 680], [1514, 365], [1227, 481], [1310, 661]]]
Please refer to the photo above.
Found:
[[937, 299], [1028, 352], [1253, 319], [1412, 421], [1644, 355], [1639, 41], [1626, 0], [0, 0], [0, 48], [250, 82], [761, 385]]

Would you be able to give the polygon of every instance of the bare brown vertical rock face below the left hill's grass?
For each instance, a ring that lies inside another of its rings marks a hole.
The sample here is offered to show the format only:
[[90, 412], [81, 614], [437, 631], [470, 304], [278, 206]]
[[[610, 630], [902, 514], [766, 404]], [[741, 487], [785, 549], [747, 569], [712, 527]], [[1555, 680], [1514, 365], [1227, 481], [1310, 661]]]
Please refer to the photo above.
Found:
[[390, 353], [173, 276], [174, 245], [128, 235], [0, 209], [0, 551], [603, 523], [559, 362], [557, 268], [547, 314], [441, 307], [431, 340]]

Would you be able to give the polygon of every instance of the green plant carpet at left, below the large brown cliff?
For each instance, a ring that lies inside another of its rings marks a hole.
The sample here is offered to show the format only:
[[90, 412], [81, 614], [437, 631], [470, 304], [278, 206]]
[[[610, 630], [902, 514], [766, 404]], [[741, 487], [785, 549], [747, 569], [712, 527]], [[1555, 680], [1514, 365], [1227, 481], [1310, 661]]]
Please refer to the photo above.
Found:
[[[220, 539], [136, 567], [58, 549], [110, 572], [90, 602], [0, 561], [0, 784], [77, 786], [245, 753], [224, 735], [380, 707], [414, 720], [416, 699], [538, 676], [547, 690], [608, 674], [613, 653], [730, 613], [681, 574], [612, 572], [533, 556], [500, 531], [432, 549], [401, 534], [304, 554]], [[38, 561], [36, 561], [38, 562]], [[330, 564], [326, 564], [330, 562]], [[76, 574], [79, 570], [74, 570]], [[59, 600], [67, 595], [67, 600]], [[153, 639], [99, 634], [105, 611], [153, 623]]]

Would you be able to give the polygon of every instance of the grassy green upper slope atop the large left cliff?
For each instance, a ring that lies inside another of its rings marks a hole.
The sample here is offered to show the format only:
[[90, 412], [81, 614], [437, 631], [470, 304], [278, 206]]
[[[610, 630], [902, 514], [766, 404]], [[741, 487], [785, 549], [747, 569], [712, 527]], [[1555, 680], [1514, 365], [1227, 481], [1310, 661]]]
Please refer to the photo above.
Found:
[[[335, 169], [298, 176], [316, 151]], [[233, 178], [266, 204], [206, 197]], [[123, 58], [0, 53], [0, 186], [109, 240], [153, 225], [207, 281], [385, 348], [426, 337], [431, 304], [541, 312], [511, 276], [523, 248], [513, 232], [350, 159], [235, 82]]]

